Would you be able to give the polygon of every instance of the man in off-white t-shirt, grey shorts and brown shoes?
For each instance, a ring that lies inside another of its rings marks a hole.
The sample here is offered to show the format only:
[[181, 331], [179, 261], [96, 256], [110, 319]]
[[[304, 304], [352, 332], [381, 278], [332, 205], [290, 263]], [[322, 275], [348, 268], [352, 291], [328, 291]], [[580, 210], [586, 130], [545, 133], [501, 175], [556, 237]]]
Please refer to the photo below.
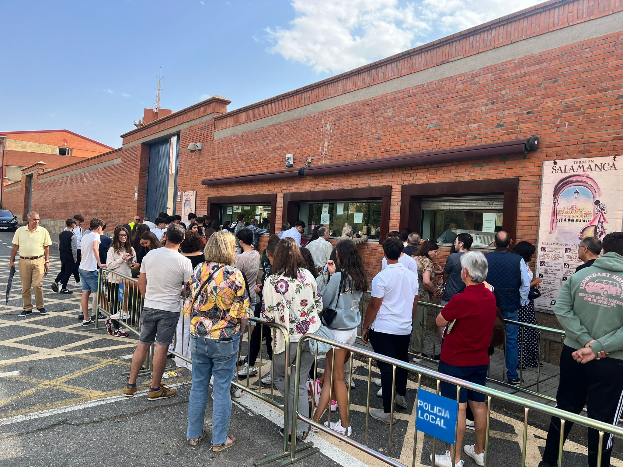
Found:
[[191, 261], [181, 255], [179, 244], [184, 241], [184, 228], [171, 224], [164, 234], [166, 246], [150, 250], [141, 263], [138, 289], [145, 298], [141, 313], [141, 335], [132, 356], [130, 379], [125, 397], [136, 391], [136, 377], [145, 362], [151, 344], [156, 343], [153, 375], [148, 400], [173, 397], [177, 391], [161, 384], [168, 347], [173, 342], [181, 311], [181, 292], [193, 274]]

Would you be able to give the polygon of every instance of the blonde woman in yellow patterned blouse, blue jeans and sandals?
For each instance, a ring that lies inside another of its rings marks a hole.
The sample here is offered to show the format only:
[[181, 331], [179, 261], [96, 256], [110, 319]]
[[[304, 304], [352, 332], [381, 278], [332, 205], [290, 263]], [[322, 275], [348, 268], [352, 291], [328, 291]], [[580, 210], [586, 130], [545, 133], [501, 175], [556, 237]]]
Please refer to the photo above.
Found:
[[227, 435], [231, 417], [231, 382], [238, 356], [240, 326], [249, 316], [249, 291], [242, 273], [234, 268], [235, 240], [229, 232], [215, 232], [207, 240], [206, 262], [198, 265], [186, 284], [183, 313], [191, 318], [190, 347], [193, 385], [188, 399], [188, 433], [191, 445], [207, 435], [207, 388], [214, 376], [212, 394], [212, 451], [233, 446]]

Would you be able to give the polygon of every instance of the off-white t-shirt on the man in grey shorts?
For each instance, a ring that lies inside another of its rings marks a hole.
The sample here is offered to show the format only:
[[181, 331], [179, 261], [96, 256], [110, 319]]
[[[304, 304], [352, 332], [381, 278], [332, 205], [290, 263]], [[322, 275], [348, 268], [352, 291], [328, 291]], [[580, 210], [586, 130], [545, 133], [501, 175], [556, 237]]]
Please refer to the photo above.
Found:
[[191, 260], [171, 248], [155, 248], [143, 258], [140, 271], [147, 276], [145, 306], [179, 313], [180, 293], [193, 274]]

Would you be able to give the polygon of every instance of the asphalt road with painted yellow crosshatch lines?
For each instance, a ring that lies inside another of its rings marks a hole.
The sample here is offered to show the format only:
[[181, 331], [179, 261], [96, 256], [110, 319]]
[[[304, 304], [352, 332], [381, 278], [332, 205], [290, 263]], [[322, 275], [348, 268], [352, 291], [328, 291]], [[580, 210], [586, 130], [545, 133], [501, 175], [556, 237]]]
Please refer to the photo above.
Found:
[[[0, 233], [0, 290], [5, 290], [9, 270], [12, 234]], [[4, 466], [83, 466], [97, 462], [109, 466], [125, 465], [252, 465], [253, 461], [282, 449], [278, 435], [281, 414], [275, 408], [251, 395], [234, 400], [229, 432], [237, 436], [237, 445], [221, 453], [209, 450], [209, 436], [198, 446], [186, 443], [186, 408], [190, 371], [167, 379], [176, 386], [178, 395], [171, 399], [149, 402], [145, 395], [132, 399], [121, 396], [129, 369], [128, 356], [136, 341], [131, 337], [110, 336], [105, 329], [82, 328], [77, 320], [79, 293], [61, 296], [50, 289], [60, 270], [58, 255], [52, 248], [52, 268], [45, 279], [47, 316], [34, 314], [18, 318], [21, 310], [21, 286], [16, 275], [11, 300], [0, 305], [0, 465]], [[79, 289], [73, 281], [69, 288]], [[246, 344], [243, 346], [243, 351]], [[268, 370], [264, 354], [264, 372]], [[323, 360], [319, 361], [320, 368]], [[356, 361], [351, 391], [353, 439], [364, 441], [368, 367]], [[378, 370], [372, 368], [372, 377]], [[244, 381], [244, 380], [242, 380]], [[139, 380], [146, 390], [149, 380]], [[257, 377], [250, 385], [259, 387]], [[270, 395], [269, 387], [263, 394]], [[371, 408], [382, 406], [372, 385]], [[275, 400], [280, 400], [277, 390]], [[397, 410], [397, 423], [392, 430], [392, 458], [412, 464], [414, 453], [414, 401], [416, 384], [409, 381], [406, 410]], [[206, 425], [211, 420], [212, 399], [207, 399]], [[331, 420], [335, 421], [333, 414]], [[325, 418], [326, 419], [326, 418]], [[388, 454], [389, 427], [369, 418], [368, 444]], [[492, 406], [489, 465], [519, 466], [523, 426], [516, 413]], [[535, 466], [545, 444], [546, 427], [530, 418], [526, 465]], [[468, 432], [466, 443], [475, 436]], [[301, 465], [312, 466], [380, 466], [371, 456], [336, 440], [326, 433], [310, 434], [320, 453]], [[565, 445], [564, 466], [586, 465], [586, 448], [582, 436], [571, 436]], [[618, 446], [618, 445], [616, 445]], [[437, 453], [447, 445], [437, 443]], [[430, 465], [432, 438], [417, 432], [414, 465]], [[465, 461], [473, 466], [472, 460]], [[621, 453], [616, 451], [612, 465], [623, 467]]]

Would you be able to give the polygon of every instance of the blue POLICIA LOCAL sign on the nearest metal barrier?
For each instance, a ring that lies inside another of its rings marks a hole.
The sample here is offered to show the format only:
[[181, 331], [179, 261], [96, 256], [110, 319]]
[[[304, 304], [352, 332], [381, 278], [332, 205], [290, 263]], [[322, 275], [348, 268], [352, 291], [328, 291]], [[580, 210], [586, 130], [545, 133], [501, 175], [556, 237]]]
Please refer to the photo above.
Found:
[[417, 430], [454, 444], [459, 402], [423, 389], [417, 390]]

